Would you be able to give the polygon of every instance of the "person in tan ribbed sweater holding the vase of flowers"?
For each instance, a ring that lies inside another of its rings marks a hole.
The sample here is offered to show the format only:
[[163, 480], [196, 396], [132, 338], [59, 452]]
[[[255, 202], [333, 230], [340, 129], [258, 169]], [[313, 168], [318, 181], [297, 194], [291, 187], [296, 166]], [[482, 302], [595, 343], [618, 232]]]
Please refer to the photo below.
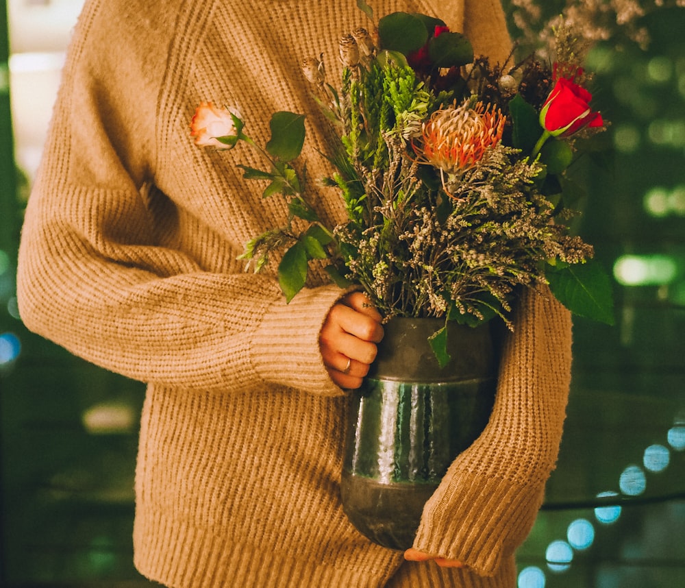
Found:
[[[493, 60], [510, 40], [497, 0], [377, 0], [440, 16]], [[569, 313], [529, 291], [486, 430], [451, 465], [406, 554], [340, 506], [349, 389], [383, 330], [362, 293], [315, 269], [289, 304], [244, 244], [284, 218], [236, 164], [194, 145], [202, 101], [239, 108], [258, 142], [277, 110], [307, 113], [308, 190], [326, 221], [325, 121], [301, 60], [336, 64], [364, 25], [354, 0], [87, 0], [26, 211], [18, 302], [27, 328], [147, 382], [134, 561], [170, 587], [510, 587], [562, 434]]]

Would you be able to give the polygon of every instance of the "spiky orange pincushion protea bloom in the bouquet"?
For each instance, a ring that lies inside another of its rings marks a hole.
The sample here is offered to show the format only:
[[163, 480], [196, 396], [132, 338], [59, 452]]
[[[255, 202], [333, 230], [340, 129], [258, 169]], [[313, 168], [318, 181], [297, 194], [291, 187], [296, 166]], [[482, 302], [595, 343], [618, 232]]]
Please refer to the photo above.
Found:
[[421, 144], [413, 145], [419, 162], [429, 163], [443, 175], [457, 175], [479, 162], [487, 149], [502, 138], [506, 119], [482, 102], [463, 103], [436, 110], [421, 125]]

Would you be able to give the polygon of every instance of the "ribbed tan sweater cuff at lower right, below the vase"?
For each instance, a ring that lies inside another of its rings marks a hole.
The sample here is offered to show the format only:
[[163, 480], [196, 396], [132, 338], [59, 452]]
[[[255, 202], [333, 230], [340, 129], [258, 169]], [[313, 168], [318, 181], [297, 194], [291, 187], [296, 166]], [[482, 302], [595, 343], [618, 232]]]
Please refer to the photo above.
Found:
[[414, 548], [493, 576], [530, 533], [544, 493], [539, 482], [517, 484], [464, 473], [443, 482], [425, 504]]

